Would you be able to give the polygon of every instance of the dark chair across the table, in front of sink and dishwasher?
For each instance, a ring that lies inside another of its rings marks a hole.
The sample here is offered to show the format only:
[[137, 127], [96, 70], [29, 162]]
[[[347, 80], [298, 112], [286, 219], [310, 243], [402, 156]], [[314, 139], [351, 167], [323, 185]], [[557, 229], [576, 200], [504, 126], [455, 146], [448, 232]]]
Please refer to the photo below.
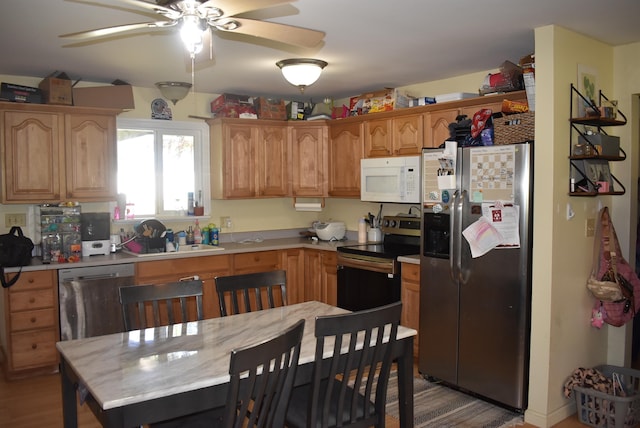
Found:
[[195, 300], [195, 319], [203, 319], [201, 280], [131, 285], [119, 293], [127, 331], [193, 321], [189, 300]]

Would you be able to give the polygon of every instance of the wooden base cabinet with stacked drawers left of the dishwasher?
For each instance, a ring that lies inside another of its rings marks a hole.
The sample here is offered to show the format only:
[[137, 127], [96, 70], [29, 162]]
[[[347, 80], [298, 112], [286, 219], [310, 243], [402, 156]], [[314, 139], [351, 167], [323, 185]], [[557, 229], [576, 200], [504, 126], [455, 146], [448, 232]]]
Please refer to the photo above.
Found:
[[58, 370], [57, 284], [55, 270], [23, 272], [18, 282], [2, 290], [0, 336], [8, 379]]

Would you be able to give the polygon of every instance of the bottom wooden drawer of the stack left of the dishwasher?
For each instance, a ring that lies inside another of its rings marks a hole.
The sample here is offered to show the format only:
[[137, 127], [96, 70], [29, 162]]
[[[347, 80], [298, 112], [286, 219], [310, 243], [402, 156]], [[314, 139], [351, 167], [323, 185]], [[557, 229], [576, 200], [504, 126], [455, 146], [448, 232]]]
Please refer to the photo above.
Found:
[[56, 337], [56, 331], [53, 329], [12, 334], [12, 369], [21, 370], [57, 364]]

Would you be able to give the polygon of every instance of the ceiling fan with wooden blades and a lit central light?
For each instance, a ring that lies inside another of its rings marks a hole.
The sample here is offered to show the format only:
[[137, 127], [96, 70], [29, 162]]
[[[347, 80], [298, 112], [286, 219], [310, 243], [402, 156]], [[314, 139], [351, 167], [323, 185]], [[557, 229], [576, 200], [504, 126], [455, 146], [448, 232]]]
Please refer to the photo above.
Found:
[[117, 1], [155, 12], [161, 19], [63, 34], [60, 37], [92, 39], [145, 28], [179, 27], [192, 59], [202, 50], [203, 39], [211, 30], [246, 34], [308, 48], [318, 45], [324, 37], [322, 31], [237, 16], [296, 0], [156, 0], [157, 3], [143, 0]]

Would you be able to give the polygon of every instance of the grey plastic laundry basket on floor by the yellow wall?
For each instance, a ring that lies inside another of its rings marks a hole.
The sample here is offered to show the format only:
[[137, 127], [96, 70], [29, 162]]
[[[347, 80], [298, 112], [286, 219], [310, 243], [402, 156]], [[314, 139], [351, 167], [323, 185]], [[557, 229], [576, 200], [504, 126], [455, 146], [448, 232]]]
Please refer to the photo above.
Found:
[[640, 425], [640, 370], [617, 366], [598, 366], [603, 375], [616, 373], [626, 397], [619, 397], [591, 388], [573, 387], [580, 423], [602, 428], [631, 428]]

